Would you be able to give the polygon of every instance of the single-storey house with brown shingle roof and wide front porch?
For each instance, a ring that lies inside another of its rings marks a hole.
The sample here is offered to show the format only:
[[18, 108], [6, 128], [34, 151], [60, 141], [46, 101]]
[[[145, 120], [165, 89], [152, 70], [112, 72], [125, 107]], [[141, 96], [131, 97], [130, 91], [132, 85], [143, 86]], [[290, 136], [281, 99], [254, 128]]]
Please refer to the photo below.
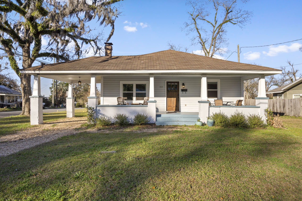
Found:
[[[34, 75], [31, 124], [43, 123], [40, 77], [68, 82], [69, 91], [72, 83], [90, 83], [88, 105], [95, 108], [97, 116], [125, 113], [133, 118], [136, 113], [146, 113], [150, 123], [188, 125], [198, 117], [206, 122], [209, 115], [219, 111], [230, 115], [238, 110], [264, 118], [268, 104], [265, 76], [281, 73], [269, 67], [174, 50], [137, 56], [111, 55], [112, 43], [105, 43], [105, 56], [21, 69], [21, 73]], [[215, 99], [243, 100], [243, 81], [252, 78], [259, 78], [256, 106], [209, 106]], [[101, 83], [100, 97], [96, 96], [96, 83]], [[74, 116], [72, 94], [68, 93], [66, 98], [67, 117]], [[117, 97], [123, 97], [129, 105], [117, 105]], [[139, 105], [144, 97], [149, 97], [148, 105]]]

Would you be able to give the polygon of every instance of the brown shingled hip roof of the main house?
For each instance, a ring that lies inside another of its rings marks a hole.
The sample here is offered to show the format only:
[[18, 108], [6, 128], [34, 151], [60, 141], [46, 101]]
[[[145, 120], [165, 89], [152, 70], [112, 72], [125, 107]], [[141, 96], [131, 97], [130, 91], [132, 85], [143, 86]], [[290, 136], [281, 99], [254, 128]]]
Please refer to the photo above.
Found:
[[92, 56], [72, 61], [33, 66], [22, 71], [102, 71], [102, 70], [239, 70], [279, 71], [260, 65], [238, 63], [175, 50], [137, 56]]

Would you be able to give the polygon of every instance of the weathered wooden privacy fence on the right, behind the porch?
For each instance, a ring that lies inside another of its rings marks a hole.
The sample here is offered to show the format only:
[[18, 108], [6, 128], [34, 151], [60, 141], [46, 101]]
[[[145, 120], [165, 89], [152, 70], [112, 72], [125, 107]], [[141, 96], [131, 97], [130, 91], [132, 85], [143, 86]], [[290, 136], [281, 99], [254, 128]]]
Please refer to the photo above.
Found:
[[[246, 99], [245, 105], [255, 105], [255, 99]], [[268, 108], [274, 114], [302, 117], [302, 98], [268, 99]]]

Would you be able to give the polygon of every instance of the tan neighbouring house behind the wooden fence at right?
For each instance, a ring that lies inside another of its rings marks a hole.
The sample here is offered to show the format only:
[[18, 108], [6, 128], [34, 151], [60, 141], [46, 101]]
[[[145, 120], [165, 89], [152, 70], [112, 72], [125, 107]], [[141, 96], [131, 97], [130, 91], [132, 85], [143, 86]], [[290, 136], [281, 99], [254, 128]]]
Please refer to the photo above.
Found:
[[266, 94], [273, 94], [273, 99], [283, 98], [283, 99], [292, 99], [292, 98], [301, 98], [302, 97], [302, 78], [297, 79], [296, 81], [284, 85], [275, 89], [272, 89]]

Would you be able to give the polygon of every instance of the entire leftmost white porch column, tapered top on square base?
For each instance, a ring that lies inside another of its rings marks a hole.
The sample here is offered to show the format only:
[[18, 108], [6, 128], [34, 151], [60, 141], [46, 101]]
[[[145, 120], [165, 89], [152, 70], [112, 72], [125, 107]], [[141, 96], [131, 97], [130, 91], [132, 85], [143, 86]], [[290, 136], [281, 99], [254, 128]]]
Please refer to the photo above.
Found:
[[43, 96], [41, 96], [40, 75], [34, 75], [31, 99], [31, 125], [43, 123]]

